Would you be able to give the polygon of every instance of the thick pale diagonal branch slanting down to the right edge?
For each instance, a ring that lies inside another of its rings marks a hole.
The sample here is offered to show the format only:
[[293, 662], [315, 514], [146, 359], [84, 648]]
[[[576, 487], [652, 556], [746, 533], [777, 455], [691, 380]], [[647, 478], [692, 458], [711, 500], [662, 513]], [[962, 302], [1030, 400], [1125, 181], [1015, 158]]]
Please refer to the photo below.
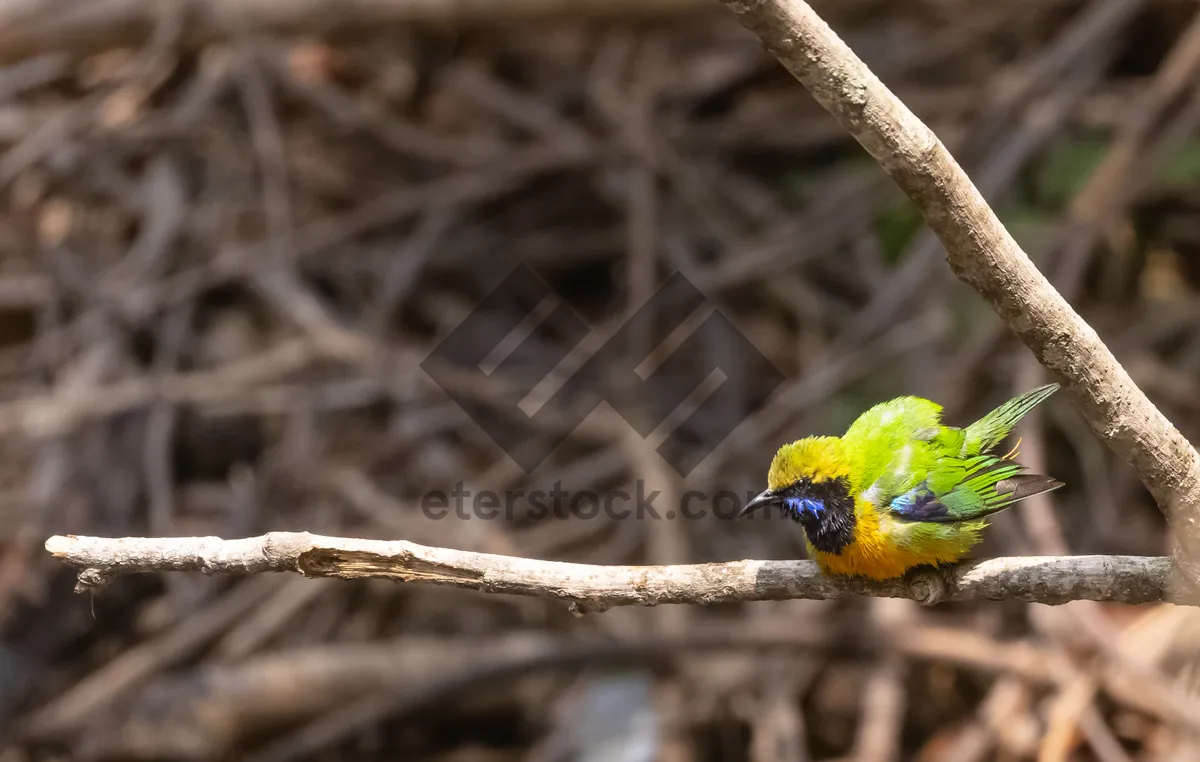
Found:
[[1200, 454], [1043, 277], [937, 136], [803, 0], [721, 0], [919, 206], [954, 274], [1062, 383], [1171, 523], [1182, 580], [1200, 578]]

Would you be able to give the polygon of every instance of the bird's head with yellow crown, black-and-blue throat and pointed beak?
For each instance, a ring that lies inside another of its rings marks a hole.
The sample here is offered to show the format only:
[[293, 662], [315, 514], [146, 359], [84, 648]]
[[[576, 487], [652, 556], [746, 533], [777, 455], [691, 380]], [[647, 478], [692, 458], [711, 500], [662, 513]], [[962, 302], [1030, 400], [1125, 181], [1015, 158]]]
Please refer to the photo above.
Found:
[[769, 505], [803, 524], [817, 550], [840, 553], [854, 528], [851, 458], [841, 438], [806, 437], [781, 446], [770, 462], [767, 490], [739, 516]]

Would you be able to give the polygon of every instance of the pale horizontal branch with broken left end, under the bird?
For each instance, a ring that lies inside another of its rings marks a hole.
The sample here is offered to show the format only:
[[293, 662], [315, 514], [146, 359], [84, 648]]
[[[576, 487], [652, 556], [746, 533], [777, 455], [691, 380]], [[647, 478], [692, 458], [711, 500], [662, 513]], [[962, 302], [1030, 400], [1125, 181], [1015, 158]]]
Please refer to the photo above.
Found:
[[46, 550], [80, 569], [79, 589], [122, 574], [292, 571], [307, 577], [384, 577], [484, 593], [553, 598], [578, 611], [612, 606], [907, 598], [932, 605], [964, 600], [1070, 600], [1148, 604], [1176, 600], [1166, 558], [1064, 556], [992, 558], [916, 569], [874, 582], [833, 577], [808, 560], [737, 560], [676, 566], [599, 566], [427, 547], [403, 540], [272, 532], [257, 538], [88, 538], [55, 535]]

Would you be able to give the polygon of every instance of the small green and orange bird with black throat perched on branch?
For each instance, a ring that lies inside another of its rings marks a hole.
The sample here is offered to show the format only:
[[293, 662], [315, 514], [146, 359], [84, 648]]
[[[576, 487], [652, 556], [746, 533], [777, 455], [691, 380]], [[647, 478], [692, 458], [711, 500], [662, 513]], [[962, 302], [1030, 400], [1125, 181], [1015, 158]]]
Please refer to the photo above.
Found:
[[1058, 390], [1020, 394], [964, 428], [916, 396], [881, 402], [840, 437], [785, 444], [767, 490], [738, 516], [778, 508], [804, 529], [809, 557], [827, 575], [892, 580], [916, 566], [956, 564], [982, 539], [986, 516], [1063, 486], [998, 445]]

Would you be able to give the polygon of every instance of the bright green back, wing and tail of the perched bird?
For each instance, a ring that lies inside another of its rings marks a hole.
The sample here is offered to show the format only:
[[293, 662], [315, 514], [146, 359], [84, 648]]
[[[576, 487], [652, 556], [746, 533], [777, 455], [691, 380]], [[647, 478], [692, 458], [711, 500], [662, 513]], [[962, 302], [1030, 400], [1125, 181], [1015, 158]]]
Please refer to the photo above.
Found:
[[[989, 452], [1057, 389], [1049, 384], [1019, 395], [966, 428], [942, 425], [937, 420], [941, 408], [924, 400], [925, 404], [905, 397], [877, 406], [883, 415], [864, 414], [866, 424], [877, 426], [874, 437], [868, 437], [859, 421], [847, 432], [865, 445], [864, 462], [871, 466], [863, 496], [910, 521], [958, 522], [1061, 487], [1055, 479], [1025, 473], [1024, 466]], [[883, 420], [898, 425], [880, 426]]]

